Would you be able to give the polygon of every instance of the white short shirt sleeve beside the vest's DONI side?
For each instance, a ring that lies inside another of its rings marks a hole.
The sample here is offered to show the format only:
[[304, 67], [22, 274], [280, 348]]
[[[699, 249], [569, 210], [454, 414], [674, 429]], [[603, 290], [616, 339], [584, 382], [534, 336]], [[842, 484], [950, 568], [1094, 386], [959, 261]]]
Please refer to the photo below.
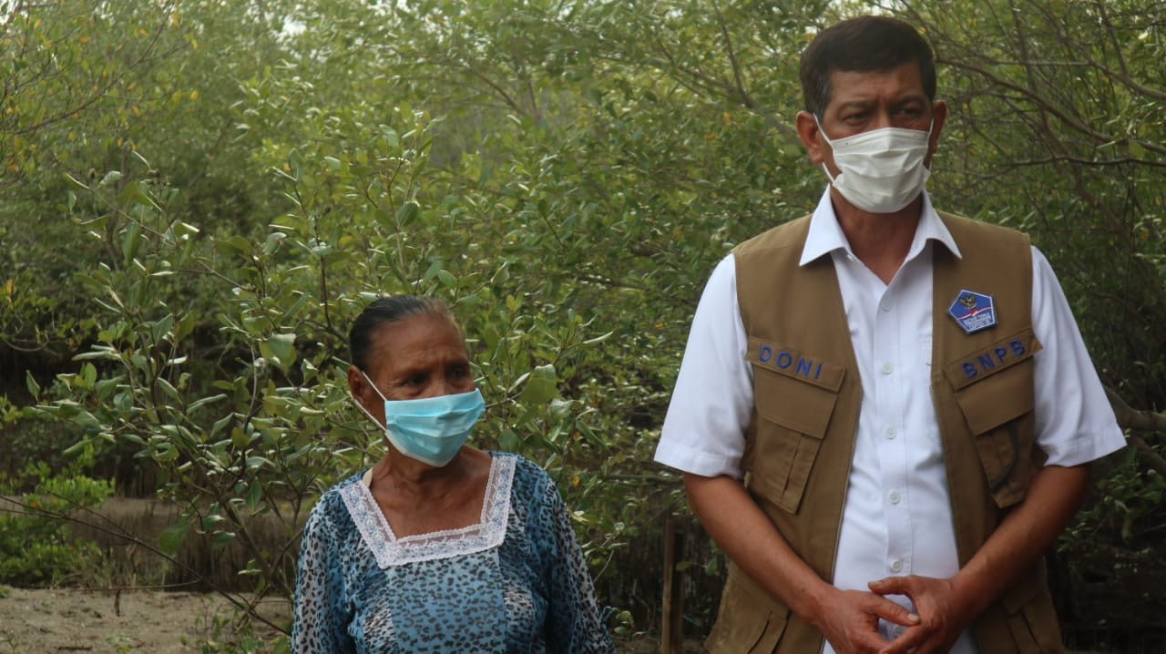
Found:
[[714, 268], [693, 317], [655, 460], [704, 477], [743, 477], [740, 458], [753, 409], [747, 344], [730, 253]]

